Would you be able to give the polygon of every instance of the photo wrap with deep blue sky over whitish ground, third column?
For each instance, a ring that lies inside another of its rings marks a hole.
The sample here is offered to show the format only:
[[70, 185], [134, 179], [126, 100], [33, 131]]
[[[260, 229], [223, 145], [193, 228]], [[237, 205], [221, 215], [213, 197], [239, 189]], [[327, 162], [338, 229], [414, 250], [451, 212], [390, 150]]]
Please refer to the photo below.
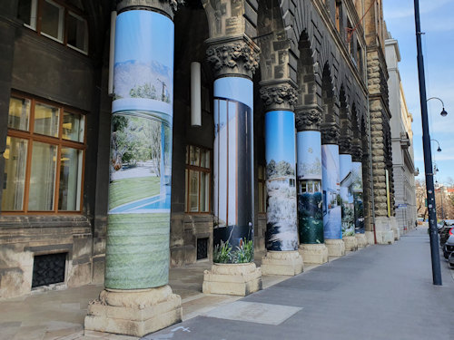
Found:
[[265, 159], [266, 248], [271, 251], [298, 250], [293, 112], [265, 113]]

